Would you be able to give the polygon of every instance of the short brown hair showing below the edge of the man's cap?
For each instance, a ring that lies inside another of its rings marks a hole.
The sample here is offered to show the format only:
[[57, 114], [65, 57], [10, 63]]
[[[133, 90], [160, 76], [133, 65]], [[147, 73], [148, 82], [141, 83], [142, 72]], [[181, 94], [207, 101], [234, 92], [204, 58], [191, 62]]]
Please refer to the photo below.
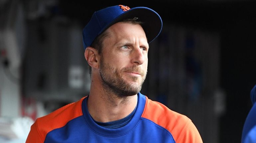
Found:
[[[124, 22], [124, 23], [131, 23], [131, 24], [140, 24], [142, 26], [142, 22], [141, 21], [137, 21], [138, 18], [133, 18], [133, 19], [125, 19], [123, 21], [120, 22]], [[94, 49], [96, 49], [98, 51], [99, 54], [101, 54], [102, 52], [102, 48], [103, 48], [103, 41], [104, 39], [108, 36], [109, 32], [106, 29], [105, 31], [103, 31], [100, 35], [98, 35], [92, 42], [91, 47], [93, 47]], [[91, 75], [91, 66], [88, 66], [89, 68], [89, 74]]]

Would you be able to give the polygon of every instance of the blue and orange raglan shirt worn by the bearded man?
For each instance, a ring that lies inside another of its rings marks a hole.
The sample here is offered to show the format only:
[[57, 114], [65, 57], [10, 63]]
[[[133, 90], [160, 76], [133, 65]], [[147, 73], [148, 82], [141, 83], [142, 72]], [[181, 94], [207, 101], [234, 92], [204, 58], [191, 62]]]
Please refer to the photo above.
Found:
[[91, 118], [87, 97], [38, 118], [26, 143], [202, 143], [192, 121], [165, 105], [138, 93], [133, 118], [116, 129], [104, 128]]

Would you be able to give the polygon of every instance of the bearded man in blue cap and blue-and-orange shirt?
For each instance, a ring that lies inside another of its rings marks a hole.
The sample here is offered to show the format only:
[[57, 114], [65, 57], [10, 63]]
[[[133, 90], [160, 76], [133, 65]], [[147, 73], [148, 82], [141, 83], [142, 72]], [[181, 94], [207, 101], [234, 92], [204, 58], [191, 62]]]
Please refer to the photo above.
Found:
[[160, 16], [146, 7], [95, 12], [83, 29], [89, 95], [37, 119], [26, 142], [202, 143], [189, 118], [140, 93], [149, 43], [161, 29]]

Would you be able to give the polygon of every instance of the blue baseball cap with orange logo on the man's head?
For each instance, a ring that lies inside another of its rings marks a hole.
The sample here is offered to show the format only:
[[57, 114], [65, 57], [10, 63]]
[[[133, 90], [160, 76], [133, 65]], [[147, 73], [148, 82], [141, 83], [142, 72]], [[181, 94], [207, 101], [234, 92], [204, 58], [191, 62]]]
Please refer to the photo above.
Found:
[[138, 19], [142, 22], [148, 43], [152, 42], [161, 32], [163, 22], [154, 10], [147, 7], [129, 8], [116, 5], [93, 13], [88, 24], [83, 28], [83, 46], [91, 46], [93, 40], [111, 25], [124, 19]]

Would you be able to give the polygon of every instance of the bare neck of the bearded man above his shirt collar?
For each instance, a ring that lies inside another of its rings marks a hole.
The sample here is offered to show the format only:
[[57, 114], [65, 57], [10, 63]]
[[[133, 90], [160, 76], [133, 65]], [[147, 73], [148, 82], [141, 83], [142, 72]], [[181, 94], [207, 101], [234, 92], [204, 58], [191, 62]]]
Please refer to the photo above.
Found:
[[137, 95], [119, 97], [111, 91], [91, 85], [87, 101], [91, 117], [99, 122], [109, 122], [128, 116], [137, 105]]

